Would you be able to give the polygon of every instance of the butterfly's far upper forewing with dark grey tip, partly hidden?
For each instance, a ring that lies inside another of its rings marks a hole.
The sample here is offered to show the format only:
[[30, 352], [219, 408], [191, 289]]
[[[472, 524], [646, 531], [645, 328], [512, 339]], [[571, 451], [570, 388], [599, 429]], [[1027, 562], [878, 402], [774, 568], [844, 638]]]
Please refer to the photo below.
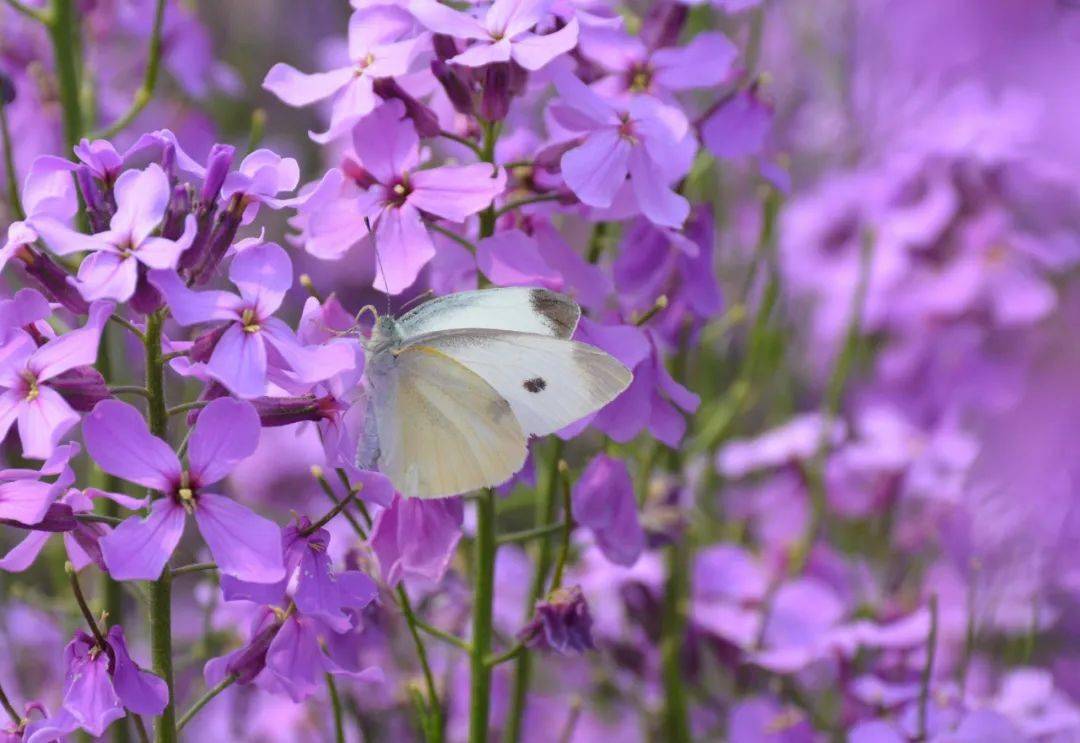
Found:
[[397, 319], [406, 340], [462, 328], [515, 330], [569, 338], [581, 309], [569, 297], [542, 288], [508, 286], [437, 297]]

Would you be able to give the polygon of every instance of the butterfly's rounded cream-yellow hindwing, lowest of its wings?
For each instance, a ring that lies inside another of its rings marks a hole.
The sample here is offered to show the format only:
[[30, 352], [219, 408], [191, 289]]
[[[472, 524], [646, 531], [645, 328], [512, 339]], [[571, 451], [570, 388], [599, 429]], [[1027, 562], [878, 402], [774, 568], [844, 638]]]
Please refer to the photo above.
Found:
[[442, 498], [522, 469], [526, 437], [510, 404], [474, 372], [424, 345], [374, 360], [376, 463], [402, 495]]

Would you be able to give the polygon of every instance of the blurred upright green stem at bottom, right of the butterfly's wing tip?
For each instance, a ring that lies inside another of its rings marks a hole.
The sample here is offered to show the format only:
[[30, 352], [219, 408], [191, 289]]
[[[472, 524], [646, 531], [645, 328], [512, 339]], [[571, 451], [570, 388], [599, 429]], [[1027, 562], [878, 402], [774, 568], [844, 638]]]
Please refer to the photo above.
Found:
[[667, 548], [667, 584], [661, 614], [660, 663], [664, 688], [663, 730], [673, 743], [689, 743], [690, 721], [683, 679], [683, 641], [688, 593], [688, 550], [685, 539]]

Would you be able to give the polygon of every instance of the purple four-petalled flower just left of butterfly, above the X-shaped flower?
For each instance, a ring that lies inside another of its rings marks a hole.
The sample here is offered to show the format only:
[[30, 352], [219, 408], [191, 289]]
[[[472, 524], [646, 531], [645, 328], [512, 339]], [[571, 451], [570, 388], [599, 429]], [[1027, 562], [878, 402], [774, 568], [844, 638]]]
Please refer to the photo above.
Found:
[[348, 341], [305, 347], [273, 316], [293, 285], [293, 262], [280, 245], [247, 247], [232, 259], [229, 279], [239, 296], [193, 292], [175, 271], [152, 271], [149, 278], [180, 325], [227, 323], [206, 338], [213, 345], [206, 374], [241, 397], [266, 394], [271, 378], [280, 384], [310, 387], [355, 363]]

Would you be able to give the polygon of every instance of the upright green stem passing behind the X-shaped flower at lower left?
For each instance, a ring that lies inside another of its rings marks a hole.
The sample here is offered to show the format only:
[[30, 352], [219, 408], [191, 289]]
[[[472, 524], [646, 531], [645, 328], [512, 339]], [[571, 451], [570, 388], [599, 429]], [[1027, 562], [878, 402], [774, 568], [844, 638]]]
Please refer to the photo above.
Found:
[[[165, 411], [165, 369], [161, 357], [161, 327], [164, 318], [160, 311], [146, 320], [146, 389], [147, 417], [150, 433], [159, 438], [168, 434], [168, 416]], [[160, 497], [160, 495], [158, 496]], [[150, 586], [150, 657], [153, 672], [168, 687], [168, 704], [156, 722], [158, 743], [176, 741], [176, 692], [173, 684], [173, 572], [166, 565], [161, 578]]]

